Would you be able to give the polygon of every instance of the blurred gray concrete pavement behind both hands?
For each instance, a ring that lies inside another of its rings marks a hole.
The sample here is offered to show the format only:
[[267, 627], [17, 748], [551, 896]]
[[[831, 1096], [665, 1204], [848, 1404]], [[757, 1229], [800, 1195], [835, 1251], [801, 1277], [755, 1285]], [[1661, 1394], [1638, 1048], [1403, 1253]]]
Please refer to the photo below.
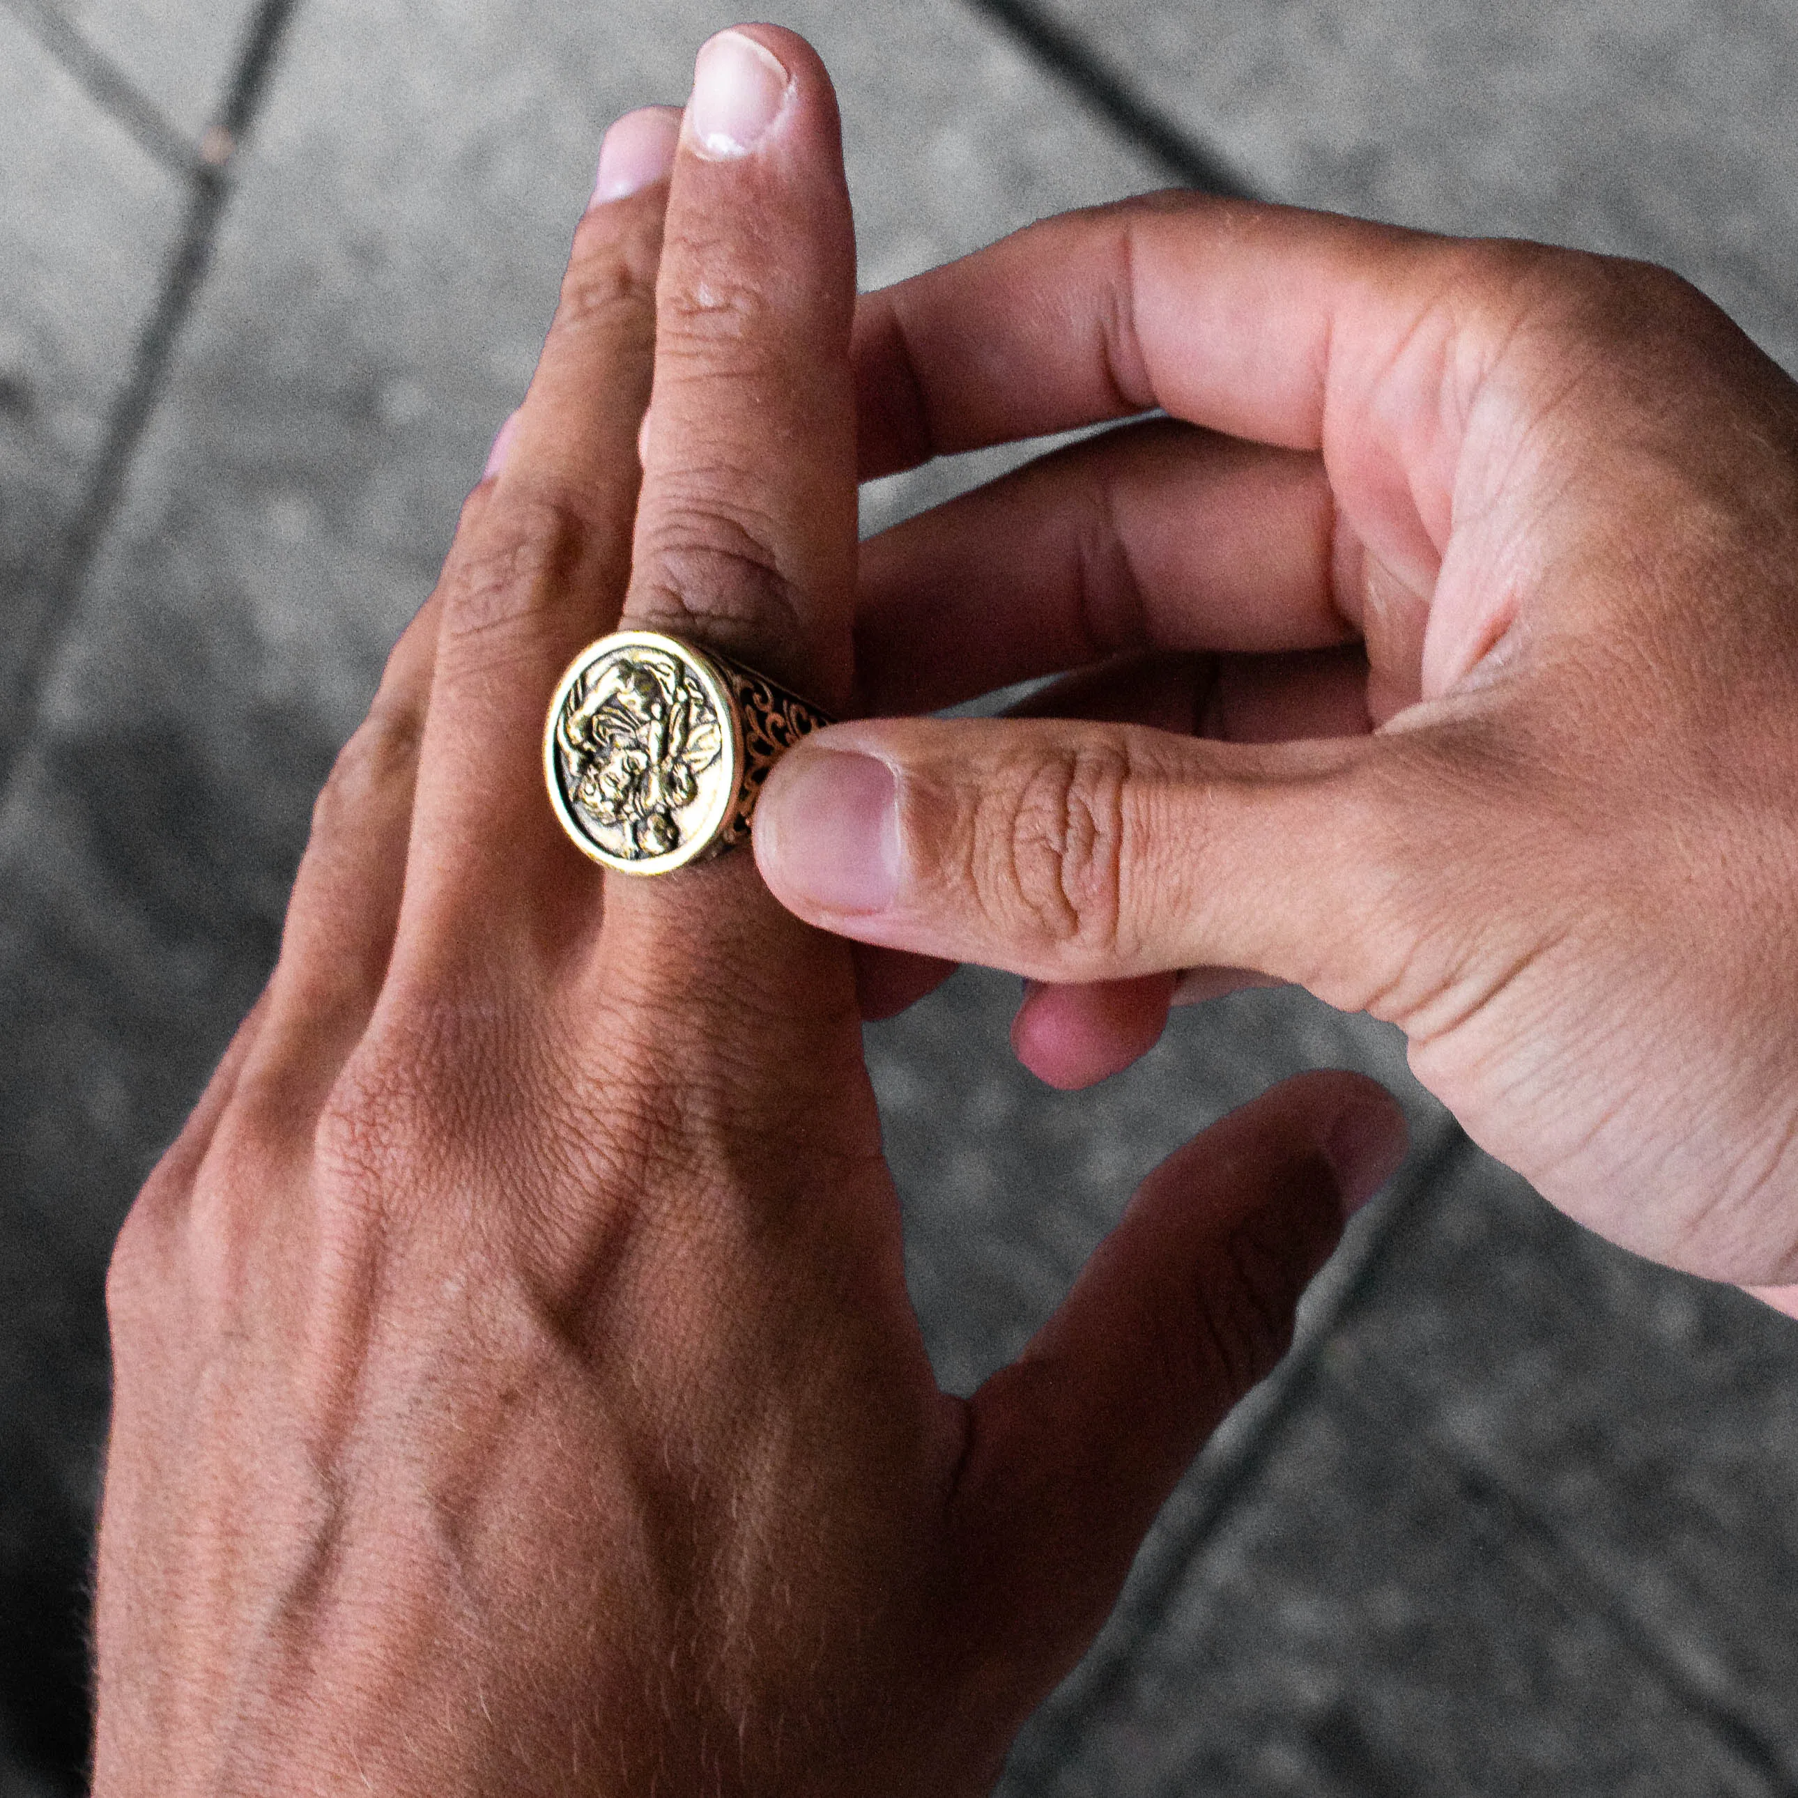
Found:
[[[712, 0], [0, 0], [0, 1798], [81, 1789], [129, 1199], [273, 958], [311, 797], [521, 396], [604, 126]], [[1775, 0], [795, 0], [861, 280], [1169, 182], [1645, 255], [1798, 365]], [[867, 496], [877, 527], [992, 466]], [[868, 1034], [966, 1390], [1162, 1154], [1320, 1063], [1417, 1153], [1009, 1794], [1798, 1793], [1798, 1331], [1552, 1214], [1296, 994], [1063, 1097], [1014, 982]]]

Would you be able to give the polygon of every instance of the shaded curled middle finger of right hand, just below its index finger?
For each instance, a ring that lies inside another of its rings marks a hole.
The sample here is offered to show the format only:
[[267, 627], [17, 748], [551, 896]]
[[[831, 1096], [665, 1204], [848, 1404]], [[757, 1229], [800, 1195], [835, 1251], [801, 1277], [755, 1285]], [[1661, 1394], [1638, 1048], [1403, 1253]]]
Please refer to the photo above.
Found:
[[1142, 649], [1340, 644], [1334, 516], [1314, 455], [1169, 421], [1073, 444], [863, 545], [858, 710]]

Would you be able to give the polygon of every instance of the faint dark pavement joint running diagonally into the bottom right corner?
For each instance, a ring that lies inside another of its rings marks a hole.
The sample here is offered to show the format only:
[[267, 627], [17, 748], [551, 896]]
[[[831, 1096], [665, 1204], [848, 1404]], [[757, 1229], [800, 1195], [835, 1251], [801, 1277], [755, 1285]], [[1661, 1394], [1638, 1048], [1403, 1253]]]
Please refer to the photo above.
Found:
[[[1543, 1516], [1528, 1498], [1514, 1491], [1489, 1467], [1480, 1465], [1440, 1429], [1431, 1428], [1429, 1417], [1440, 1395], [1426, 1392], [1399, 1368], [1383, 1363], [1381, 1372], [1386, 1374], [1384, 1395], [1375, 1393], [1366, 1384], [1348, 1386], [1345, 1383], [1343, 1402], [1350, 1410], [1357, 1410], [1370, 1424], [1402, 1431], [1406, 1440], [1435, 1462], [1442, 1476], [1462, 1494], [1476, 1523], [1483, 1523], [1489, 1534], [1505, 1546], [1516, 1550], [1518, 1544], [1527, 1544], [1543, 1562], [1548, 1562], [1548, 1566], [1519, 1564], [1519, 1571], [1562, 1606], [1570, 1600], [1568, 1588], [1577, 1588], [1579, 1607], [1586, 1615], [1602, 1618], [1618, 1642], [1638, 1661], [1654, 1670], [1670, 1696], [1701, 1717], [1710, 1731], [1766, 1782], [1769, 1794], [1798, 1798], [1798, 1766], [1793, 1766], [1791, 1758], [1767, 1740], [1766, 1731], [1744, 1715], [1715, 1681], [1706, 1681], [1703, 1674], [1681, 1665], [1678, 1656], [1667, 1652], [1665, 1633], [1656, 1631], [1647, 1618], [1638, 1615], [1627, 1591], [1588, 1566], [1577, 1543]], [[1401, 1390], [1404, 1392], [1402, 1404], [1397, 1402]], [[1678, 1642], [1678, 1636], [1672, 1640]]]

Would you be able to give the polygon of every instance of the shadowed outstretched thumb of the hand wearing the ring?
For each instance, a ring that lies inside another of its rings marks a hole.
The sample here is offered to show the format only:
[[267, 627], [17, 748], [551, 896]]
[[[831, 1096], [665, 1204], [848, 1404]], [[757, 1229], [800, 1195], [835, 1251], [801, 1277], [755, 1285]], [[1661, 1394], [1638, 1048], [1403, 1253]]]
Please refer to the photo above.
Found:
[[1066, 1670], [1154, 1514], [1286, 1354], [1343, 1217], [1404, 1156], [1372, 1081], [1309, 1073], [1162, 1163], [1023, 1356], [973, 1399], [958, 1539], [982, 1616]]

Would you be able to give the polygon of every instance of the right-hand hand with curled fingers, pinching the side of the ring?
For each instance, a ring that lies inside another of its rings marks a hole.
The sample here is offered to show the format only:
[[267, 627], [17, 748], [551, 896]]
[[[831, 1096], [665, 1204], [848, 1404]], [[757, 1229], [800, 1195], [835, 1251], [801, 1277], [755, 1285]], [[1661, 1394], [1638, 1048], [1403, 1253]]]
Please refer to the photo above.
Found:
[[1097, 723], [814, 739], [757, 823], [786, 904], [1048, 984], [1018, 1039], [1066, 1084], [1170, 996], [1300, 982], [1613, 1241], [1798, 1280], [1776, 367], [1661, 270], [1190, 196], [874, 295], [856, 343], [867, 473], [1187, 423], [867, 547], [868, 710], [1097, 663], [1039, 705]]

